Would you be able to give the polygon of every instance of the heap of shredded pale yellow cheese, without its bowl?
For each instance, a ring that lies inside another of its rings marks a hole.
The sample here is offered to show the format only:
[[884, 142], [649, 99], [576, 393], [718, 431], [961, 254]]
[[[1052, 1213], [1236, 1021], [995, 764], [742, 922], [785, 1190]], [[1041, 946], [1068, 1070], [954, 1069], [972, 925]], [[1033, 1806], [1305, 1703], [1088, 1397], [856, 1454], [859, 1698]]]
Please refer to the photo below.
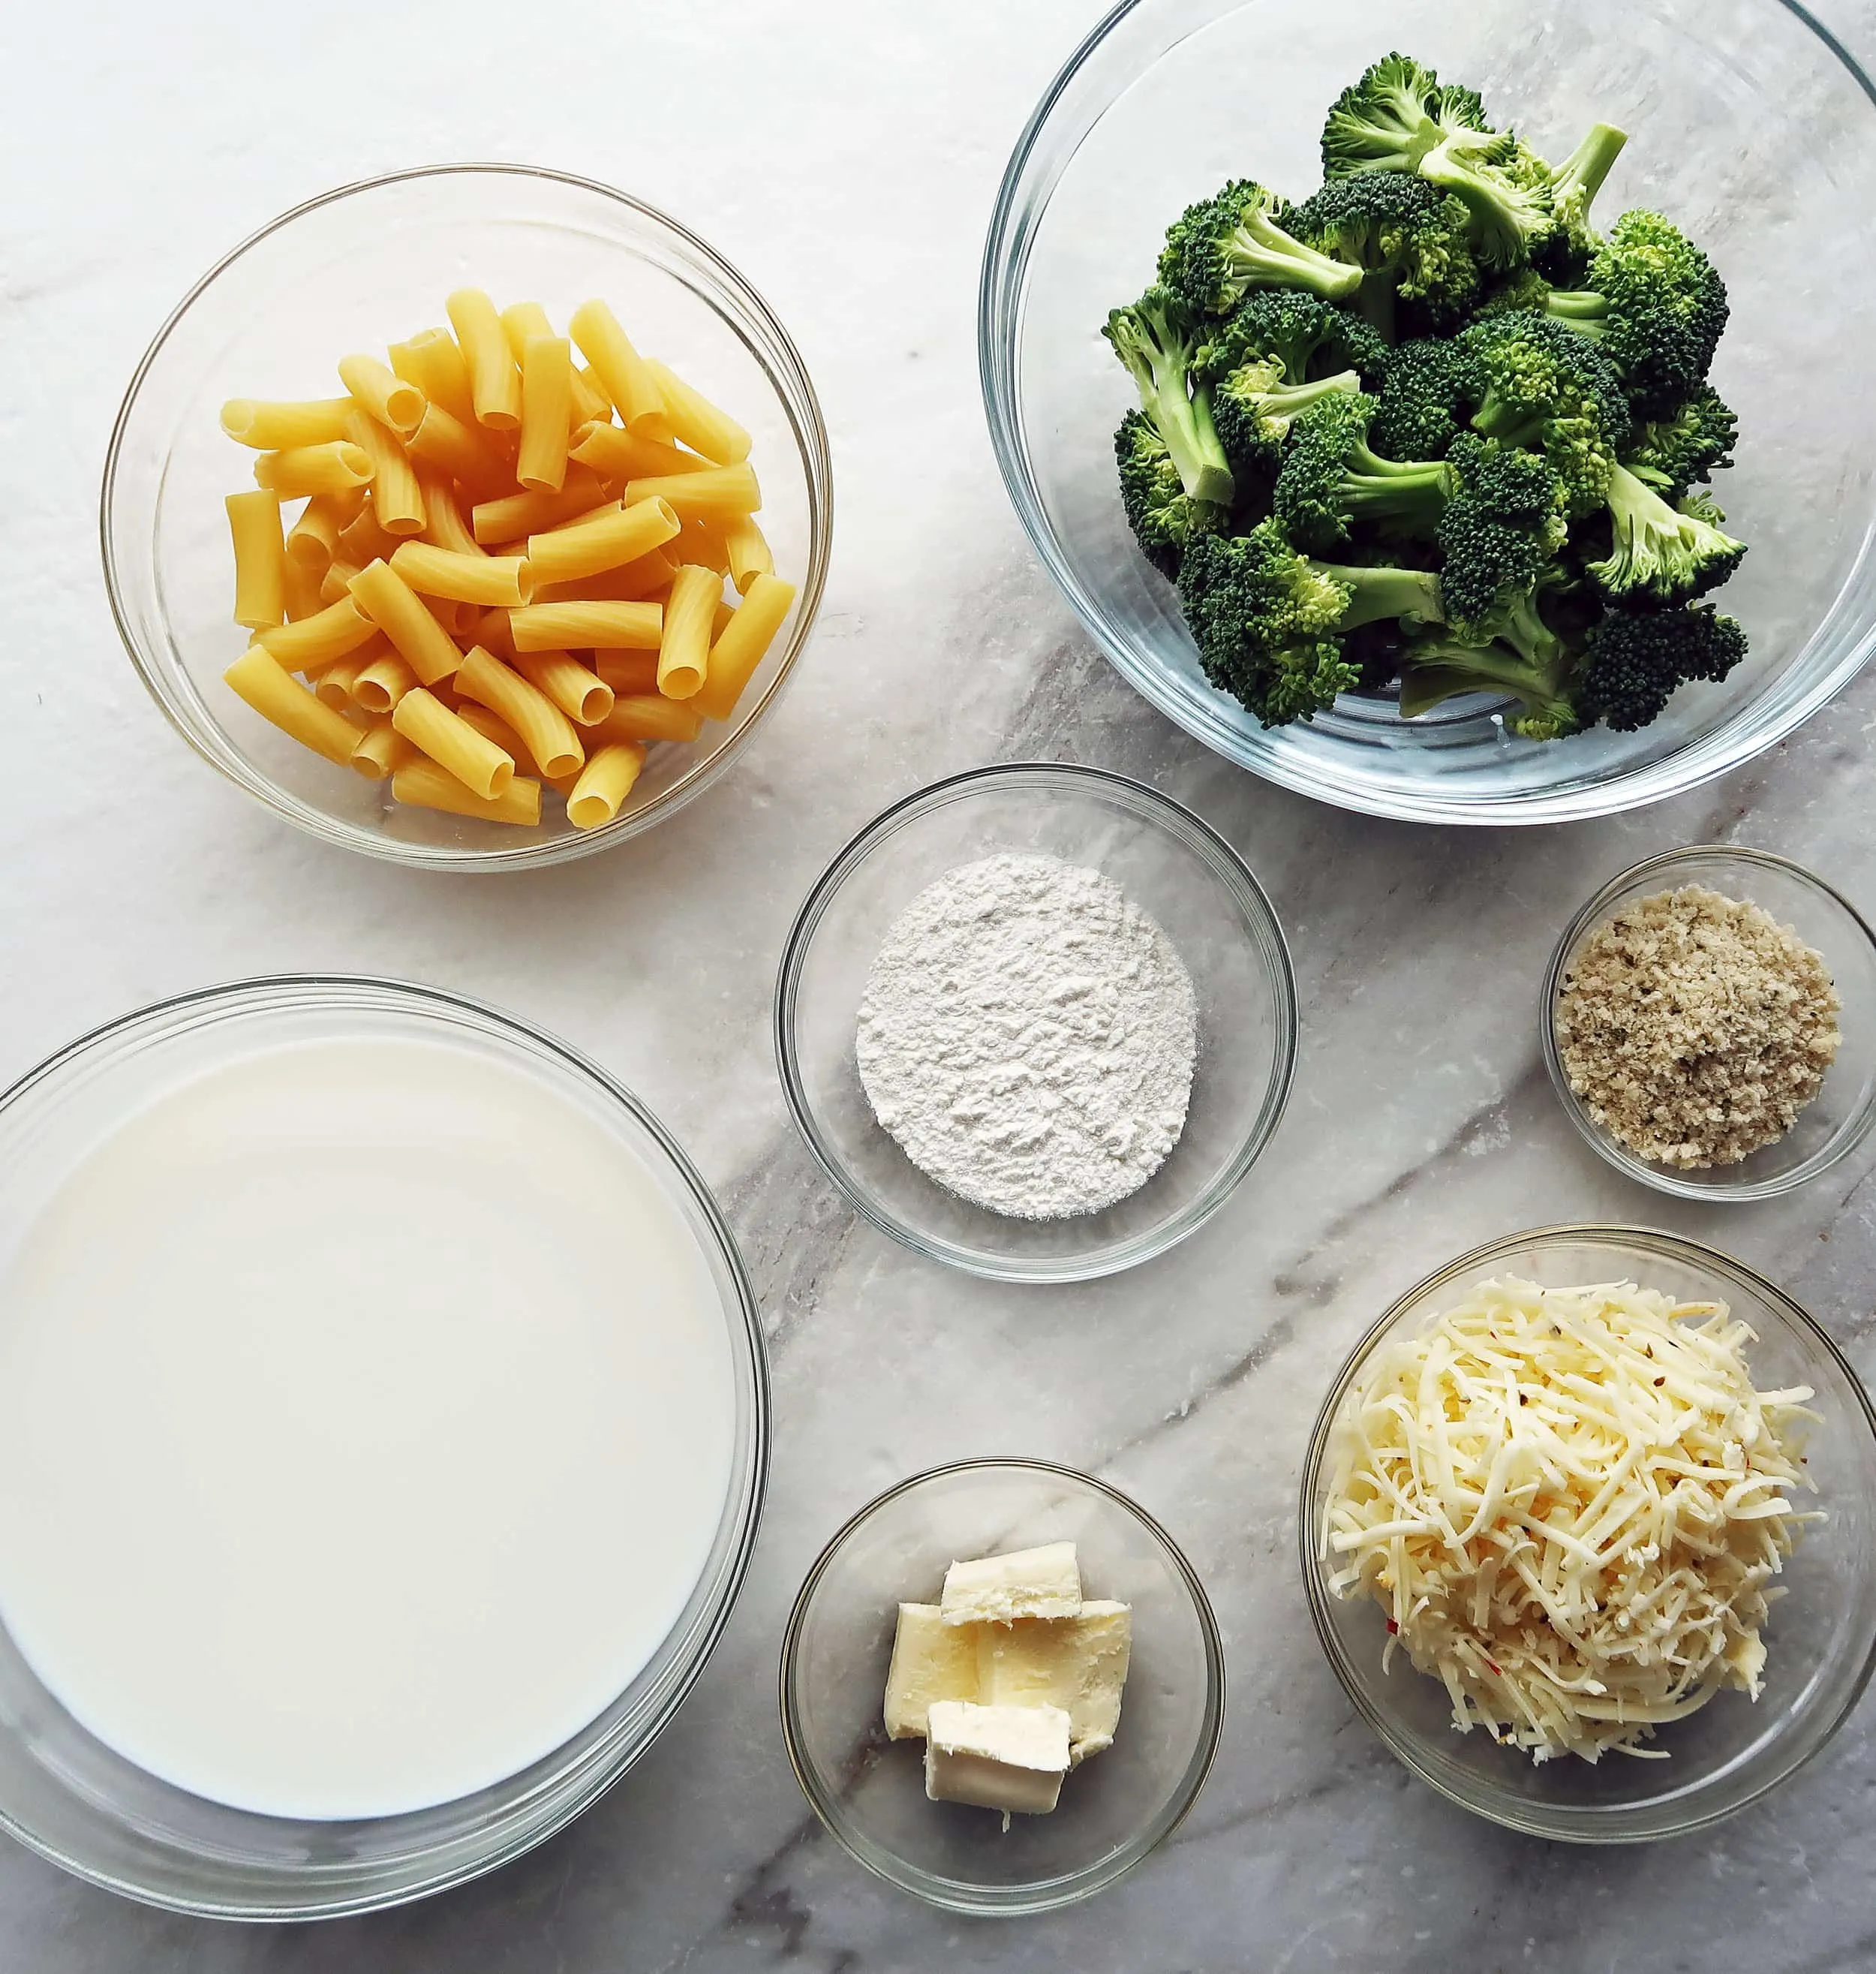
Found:
[[1760, 1694], [1799, 1526], [1809, 1388], [1756, 1392], [1724, 1303], [1487, 1281], [1383, 1342], [1335, 1423], [1322, 1559], [1444, 1682], [1460, 1731], [1535, 1761], [1643, 1749]]

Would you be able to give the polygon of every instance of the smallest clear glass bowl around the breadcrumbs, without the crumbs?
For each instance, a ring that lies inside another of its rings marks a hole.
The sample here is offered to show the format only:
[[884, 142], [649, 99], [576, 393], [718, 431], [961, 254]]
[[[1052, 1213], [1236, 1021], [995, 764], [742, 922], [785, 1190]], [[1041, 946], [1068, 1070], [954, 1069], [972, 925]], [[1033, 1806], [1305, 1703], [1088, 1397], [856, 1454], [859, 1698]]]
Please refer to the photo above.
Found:
[[[1623, 906], [1683, 884], [1700, 884], [1769, 912], [1819, 953], [1842, 1001], [1842, 1044], [1819, 1094], [1775, 1143], [1738, 1165], [1681, 1171], [1641, 1159], [1600, 1125], [1570, 1088], [1556, 1040], [1556, 1005], [1582, 944]], [[1823, 878], [1769, 851], [1696, 843], [1667, 851], [1610, 878], [1570, 920], [1551, 955], [1539, 1011], [1545, 1068], [1570, 1123], [1618, 1173], [1683, 1200], [1769, 1200], [1846, 1159], [1876, 1125], [1876, 934]]]

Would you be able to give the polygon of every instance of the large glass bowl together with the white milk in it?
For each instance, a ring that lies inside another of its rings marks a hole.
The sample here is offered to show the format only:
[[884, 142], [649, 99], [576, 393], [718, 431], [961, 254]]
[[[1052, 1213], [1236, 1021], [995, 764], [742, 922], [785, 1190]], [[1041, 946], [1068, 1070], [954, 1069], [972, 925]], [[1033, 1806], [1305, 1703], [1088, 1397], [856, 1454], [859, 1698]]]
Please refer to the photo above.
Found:
[[651, 1743], [767, 1467], [736, 1242], [493, 1009], [288, 977], [0, 1098], [0, 1824], [320, 1917], [541, 1842]]

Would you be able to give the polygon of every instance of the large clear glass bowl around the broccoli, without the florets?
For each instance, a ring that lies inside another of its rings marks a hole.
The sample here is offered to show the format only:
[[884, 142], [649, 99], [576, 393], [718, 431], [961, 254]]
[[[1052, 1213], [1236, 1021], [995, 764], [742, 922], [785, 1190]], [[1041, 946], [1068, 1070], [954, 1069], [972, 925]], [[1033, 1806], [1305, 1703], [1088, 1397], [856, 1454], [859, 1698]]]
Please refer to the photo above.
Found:
[[[1320, 184], [1334, 97], [1391, 47], [1483, 91], [1549, 156], [1606, 118], [1631, 132], [1598, 207], [1657, 205], [1732, 292], [1714, 383], [1740, 413], [1722, 474], [1752, 545], [1724, 608], [1752, 657], [1679, 693], [1635, 734], [1517, 740], [1493, 703], [1401, 721], [1355, 695], [1264, 730], [1209, 687], [1178, 598], [1120, 515], [1113, 432], [1132, 403], [1101, 338], [1152, 278], [1168, 221], [1229, 178]], [[1750, 59], [1742, 57], [1750, 49]], [[1604, 815], [1693, 788], [1771, 746], [1876, 645], [1864, 555], [1876, 109], [1844, 49], [1781, 0], [1134, 0], [1049, 85], [1004, 174], [984, 247], [978, 359], [990, 436], [1038, 555], [1115, 667], [1229, 760], [1347, 809], [1440, 823]], [[1827, 245], [1827, 251], [1819, 251]]]

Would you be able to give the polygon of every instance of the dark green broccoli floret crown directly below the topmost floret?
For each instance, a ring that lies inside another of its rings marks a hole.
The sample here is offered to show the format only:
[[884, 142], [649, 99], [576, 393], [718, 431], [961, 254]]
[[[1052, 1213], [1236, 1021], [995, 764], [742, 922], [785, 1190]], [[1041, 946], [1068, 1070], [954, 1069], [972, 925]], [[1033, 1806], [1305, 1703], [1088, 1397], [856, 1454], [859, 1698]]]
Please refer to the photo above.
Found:
[[1332, 178], [1290, 213], [1298, 239], [1361, 268], [1357, 304], [1393, 340], [1397, 298], [1426, 328], [1446, 328], [1479, 296], [1479, 265], [1460, 199], [1412, 172]]

